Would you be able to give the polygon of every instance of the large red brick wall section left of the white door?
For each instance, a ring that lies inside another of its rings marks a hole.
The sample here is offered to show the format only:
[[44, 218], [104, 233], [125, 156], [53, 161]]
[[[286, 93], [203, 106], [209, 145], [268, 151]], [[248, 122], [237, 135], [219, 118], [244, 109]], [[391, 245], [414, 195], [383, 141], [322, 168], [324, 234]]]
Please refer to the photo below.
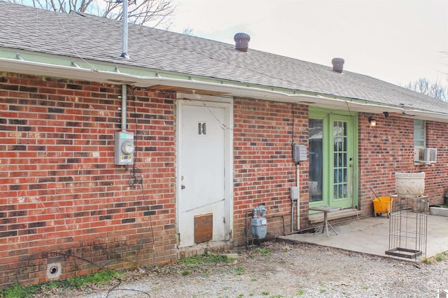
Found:
[[3, 287], [45, 281], [51, 262], [66, 278], [176, 258], [174, 96], [128, 92], [142, 190], [128, 185], [132, 166], [113, 164], [120, 94], [120, 85], [0, 73]]

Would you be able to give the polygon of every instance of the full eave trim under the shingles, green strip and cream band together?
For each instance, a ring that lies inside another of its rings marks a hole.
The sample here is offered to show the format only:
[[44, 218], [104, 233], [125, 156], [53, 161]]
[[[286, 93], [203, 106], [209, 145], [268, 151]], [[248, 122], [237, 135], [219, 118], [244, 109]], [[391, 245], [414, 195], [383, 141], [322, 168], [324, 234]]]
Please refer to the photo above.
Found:
[[[413, 113], [421, 120], [448, 122], [448, 114], [423, 110], [405, 110], [399, 105], [379, 104], [373, 101], [336, 97], [299, 90], [219, 80], [186, 73], [174, 73], [119, 63], [93, 62], [73, 57], [44, 55], [25, 50], [0, 48], [0, 71], [53, 76], [99, 83], [128, 84], [136, 87], [168, 85], [193, 90], [222, 92], [228, 97], [279, 101], [321, 108], [333, 108], [364, 113]], [[403, 114], [404, 115], [404, 114]]]

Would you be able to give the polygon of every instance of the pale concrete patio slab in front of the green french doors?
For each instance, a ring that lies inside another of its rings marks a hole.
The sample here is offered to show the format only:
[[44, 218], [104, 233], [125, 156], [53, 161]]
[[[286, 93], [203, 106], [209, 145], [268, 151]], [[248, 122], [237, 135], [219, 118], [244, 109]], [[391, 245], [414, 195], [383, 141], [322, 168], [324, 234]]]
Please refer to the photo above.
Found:
[[[344, 250], [367, 253], [370, 255], [379, 255], [381, 257], [393, 257], [386, 255], [389, 249], [390, 219], [383, 215], [377, 218], [363, 218], [344, 223], [332, 223], [337, 234], [331, 229], [329, 235], [321, 231], [309, 234], [290, 234], [279, 236], [279, 239], [293, 241], [298, 243], [313, 243], [319, 246], [328, 246]], [[428, 215], [427, 218], [427, 238], [426, 238], [426, 257], [433, 257], [437, 253], [448, 250], [448, 218], [444, 216]], [[412, 241], [410, 239], [409, 241]], [[407, 246], [413, 243], [407, 243]], [[424, 247], [423, 247], [424, 250]], [[425, 255], [420, 257], [403, 258], [402, 260], [421, 261]]]

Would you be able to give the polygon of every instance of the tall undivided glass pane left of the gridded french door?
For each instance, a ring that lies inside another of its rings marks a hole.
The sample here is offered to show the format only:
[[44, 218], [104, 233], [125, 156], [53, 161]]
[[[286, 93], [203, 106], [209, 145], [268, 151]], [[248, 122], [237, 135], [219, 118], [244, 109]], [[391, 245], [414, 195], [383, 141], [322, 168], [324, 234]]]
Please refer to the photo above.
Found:
[[323, 120], [309, 119], [309, 201], [322, 201]]

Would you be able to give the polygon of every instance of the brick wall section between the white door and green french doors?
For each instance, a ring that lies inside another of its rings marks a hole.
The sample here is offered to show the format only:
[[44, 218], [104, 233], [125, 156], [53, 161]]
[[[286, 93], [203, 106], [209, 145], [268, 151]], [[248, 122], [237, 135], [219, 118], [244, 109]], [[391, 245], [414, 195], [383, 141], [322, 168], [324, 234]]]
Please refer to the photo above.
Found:
[[[254, 207], [267, 208], [267, 238], [290, 232], [290, 191], [296, 185], [292, 143], [307, 146], [308, 108], [272, 101], [234, 101], [235, 244], [245, 242], [244, 225]], [[301, 222], [307, 219], [307, 162], [300, 164]], [[249, 213], [248, 213], [249, 212]], [[295, 211], [296, 212], [296, 211]], [[251, 238], [250, 231], [248, 232]]]

